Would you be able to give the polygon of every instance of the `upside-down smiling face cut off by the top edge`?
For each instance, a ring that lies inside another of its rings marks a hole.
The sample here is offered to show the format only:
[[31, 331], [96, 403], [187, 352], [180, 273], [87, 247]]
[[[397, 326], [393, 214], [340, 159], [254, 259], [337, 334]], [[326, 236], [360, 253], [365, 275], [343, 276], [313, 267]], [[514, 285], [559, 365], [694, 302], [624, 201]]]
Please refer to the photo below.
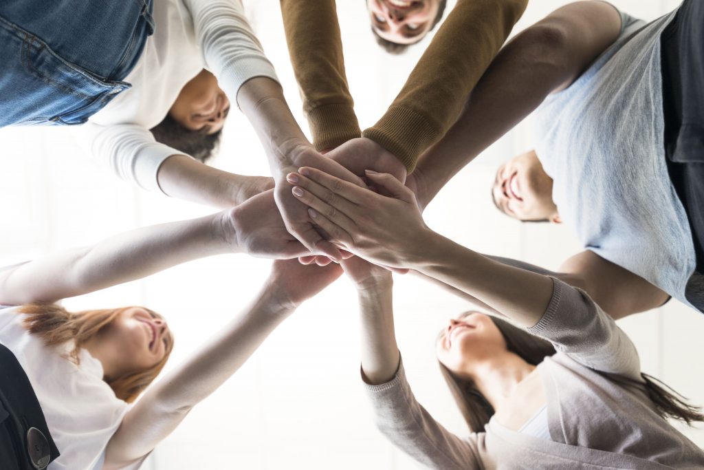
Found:
[[372, 28], [396, 44], [420, 41], [432, 28], [439, 0], [367, 0]]

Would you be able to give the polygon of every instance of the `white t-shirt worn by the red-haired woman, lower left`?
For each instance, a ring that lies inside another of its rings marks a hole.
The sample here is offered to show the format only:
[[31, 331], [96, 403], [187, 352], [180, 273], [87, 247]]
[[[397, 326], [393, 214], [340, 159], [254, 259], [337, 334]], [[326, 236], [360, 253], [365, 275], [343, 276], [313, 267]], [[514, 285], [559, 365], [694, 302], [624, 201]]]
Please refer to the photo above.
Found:
[[[49, 470], [92, 470], [130, 404], [115, 397], [103, 381], [103, 366], [81, 350], [80, 366], [46, 347], [23, 326], [19, 307], [0, 307], [0, 343], [11, 350], [30, 379], [51, 437], [61, 455]], [[141, 463], [141, 462], [139, 462]], [[139, 464], [131, 466], [136, 469]]]

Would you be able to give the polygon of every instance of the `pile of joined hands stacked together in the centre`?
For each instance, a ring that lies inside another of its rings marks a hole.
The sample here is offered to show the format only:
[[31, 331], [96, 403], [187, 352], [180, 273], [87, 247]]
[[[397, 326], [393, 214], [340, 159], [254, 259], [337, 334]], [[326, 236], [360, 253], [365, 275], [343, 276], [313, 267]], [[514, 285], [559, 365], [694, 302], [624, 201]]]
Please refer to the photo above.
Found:
[[356, 254], [403, 268], [427, 229], [420, 175], [407, 175], [394, 154], [364, 137], [322, 153], [308, 142], [288, 146], [277, 151], [273, 180], [257, 180], [263, 191], [227, 211], [237, 245], [302, 264]]

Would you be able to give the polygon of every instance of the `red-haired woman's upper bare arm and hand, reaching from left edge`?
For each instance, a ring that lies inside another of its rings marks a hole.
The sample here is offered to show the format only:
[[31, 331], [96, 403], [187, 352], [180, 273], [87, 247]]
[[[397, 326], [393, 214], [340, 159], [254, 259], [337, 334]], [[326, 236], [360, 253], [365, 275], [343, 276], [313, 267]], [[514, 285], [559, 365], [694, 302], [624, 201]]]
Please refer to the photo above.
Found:
[[0, 272], [0, 304], [56, 302], [204, 256], [246, 252], [291, 258], [306, 249], [286, 232], [272, 192], [212, 216], [152, 225]]

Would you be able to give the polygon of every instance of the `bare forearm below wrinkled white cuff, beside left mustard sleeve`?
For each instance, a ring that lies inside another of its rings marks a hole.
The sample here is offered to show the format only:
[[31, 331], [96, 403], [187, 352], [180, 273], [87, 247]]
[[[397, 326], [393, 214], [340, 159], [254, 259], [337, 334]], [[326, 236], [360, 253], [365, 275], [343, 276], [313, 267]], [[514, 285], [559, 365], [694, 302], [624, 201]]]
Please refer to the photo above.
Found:
[[281, 86], [270, 78], [253, 78], [239, 89], [237, 103], [256, 130], [275, 179], [291, 171], [301, 147], [310, 147], [291, 114]]

